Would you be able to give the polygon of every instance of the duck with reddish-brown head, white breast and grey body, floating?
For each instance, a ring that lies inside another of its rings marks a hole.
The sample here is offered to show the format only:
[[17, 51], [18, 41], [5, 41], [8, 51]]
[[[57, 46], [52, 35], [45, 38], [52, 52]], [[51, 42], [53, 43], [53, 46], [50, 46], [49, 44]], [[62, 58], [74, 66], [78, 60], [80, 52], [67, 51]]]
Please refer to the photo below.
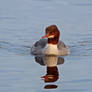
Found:
[[31, 54], [56, 56], [69, 55], [69, 47], [63, 41], [59, 40], [59, 38], [60, 31], [56, 25], [46, 27], [45, 35], [31, 47]]

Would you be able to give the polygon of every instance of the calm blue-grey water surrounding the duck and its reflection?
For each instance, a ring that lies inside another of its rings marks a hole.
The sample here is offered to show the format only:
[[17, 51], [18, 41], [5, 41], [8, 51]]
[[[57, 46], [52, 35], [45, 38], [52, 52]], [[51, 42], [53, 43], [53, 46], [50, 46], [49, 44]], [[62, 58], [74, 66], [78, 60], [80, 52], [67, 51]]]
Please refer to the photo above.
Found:
[[[31, 45], [56, 24], [71, 49], [59, 66], [57, 89], [46, 90], [46, 67]], [[0, 0], [0, 92], [92, 91], [92, 0]]]

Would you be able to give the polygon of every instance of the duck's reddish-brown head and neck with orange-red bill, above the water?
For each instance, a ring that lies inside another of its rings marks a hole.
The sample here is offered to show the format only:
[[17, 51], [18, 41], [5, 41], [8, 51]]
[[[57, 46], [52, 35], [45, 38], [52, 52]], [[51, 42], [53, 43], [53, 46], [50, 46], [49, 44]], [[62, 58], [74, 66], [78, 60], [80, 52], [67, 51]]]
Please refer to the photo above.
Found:
[[46, 28], [46, 35], [42, 38], [48, 38], [48, 43], [57, 44], [60, 36], [60, 32], [56, 25], [51, 25]]

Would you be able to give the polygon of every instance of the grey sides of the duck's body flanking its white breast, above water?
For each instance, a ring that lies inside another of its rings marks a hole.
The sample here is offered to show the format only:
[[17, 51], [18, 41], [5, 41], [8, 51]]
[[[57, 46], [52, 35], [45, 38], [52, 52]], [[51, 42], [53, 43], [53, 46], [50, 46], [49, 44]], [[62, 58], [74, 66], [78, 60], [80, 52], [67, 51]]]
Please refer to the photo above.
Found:
[[[48, 44], [47, 39], [40, 39], [31, 47], [31, 54], [32, 55], [43, 55], [43, 49], [45, 48], [46, 44]], [[59, 41], [57, 44], [58, 48], [58, 55], [65, 56], [70, 54], [68, 46], [64, 44], [64, 42]]]

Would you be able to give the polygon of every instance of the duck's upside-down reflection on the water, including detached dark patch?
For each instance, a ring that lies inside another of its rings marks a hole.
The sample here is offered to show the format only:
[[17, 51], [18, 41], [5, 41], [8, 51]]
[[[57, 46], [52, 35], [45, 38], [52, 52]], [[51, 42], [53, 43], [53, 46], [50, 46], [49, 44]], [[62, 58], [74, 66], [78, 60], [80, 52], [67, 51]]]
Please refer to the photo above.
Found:
[[[56, 82], [59, 79], [59, 72], [57, 65], [63, 64], [64, 59], [62, 57], [48, 55], [48, 56], [36, 56], [35, 61], [42, 66], [46, 65], [46, 75], [42, 76], [42, 80], [45, 83]], [[57, 85], [46, 85], [45, 89], [57, 88]]]

